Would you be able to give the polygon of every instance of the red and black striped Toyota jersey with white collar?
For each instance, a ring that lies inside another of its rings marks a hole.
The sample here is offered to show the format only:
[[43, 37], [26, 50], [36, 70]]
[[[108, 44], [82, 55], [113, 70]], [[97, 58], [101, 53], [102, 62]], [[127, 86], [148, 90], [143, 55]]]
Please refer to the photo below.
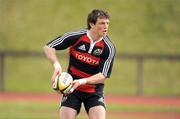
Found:
[[[69, 48], [68, 72], [73, 79], [90, 77], [101, 72], [105, 77], [110, 77], [115, 47], [108, 36], [102, 40], [93, 41], [87, 29], [77, 32], [68, 32], [57, 37], [47, 44], [56, 50]], [[83, 92], [102, 91], [104, 84], [81, 85], [77, 88]]]

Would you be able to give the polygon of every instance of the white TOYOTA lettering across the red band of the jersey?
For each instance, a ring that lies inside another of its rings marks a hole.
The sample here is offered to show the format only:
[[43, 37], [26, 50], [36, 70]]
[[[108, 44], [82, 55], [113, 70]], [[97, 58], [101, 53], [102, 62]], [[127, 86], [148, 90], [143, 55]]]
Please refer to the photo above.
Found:
[[76, 53], [75, 54], [76, 58], [83, 61], [83, 62], [86, 62], [88, 64], [91, 64], [91, 65], [98, 65], [99, 64], [99, 61], [91, 58], [91, 57], [88, 57], [88, 56], [85, 56], [85, 55], [82, 55], [82, 54], [78, 54]]

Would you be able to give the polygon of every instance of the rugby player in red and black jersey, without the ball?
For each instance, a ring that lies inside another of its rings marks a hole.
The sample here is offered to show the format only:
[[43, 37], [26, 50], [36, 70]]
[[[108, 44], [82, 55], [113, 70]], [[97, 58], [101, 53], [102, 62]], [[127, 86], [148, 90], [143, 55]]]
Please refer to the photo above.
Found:
[[68, 96], [63, 95], [60, 119], [75, 119], [84, 104], [89, 119], [105, 119], [103, 88], [110, 77], [115, 47], [107, 36], [109, 15], [99, 9], [89, 13], [88, 29], [68, 32], [44, 47], [47, 58], [54, 66], [52, 82], [62, 73], [56, 50], [69, 48], [68, 73], [74, 79]]

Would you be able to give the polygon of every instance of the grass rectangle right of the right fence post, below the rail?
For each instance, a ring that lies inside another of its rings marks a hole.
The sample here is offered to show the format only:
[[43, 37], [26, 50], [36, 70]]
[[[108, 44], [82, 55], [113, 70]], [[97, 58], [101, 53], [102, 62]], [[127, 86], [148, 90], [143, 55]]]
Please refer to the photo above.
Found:
[[149, 95], [179, 95], [180, 62], [146, 61], [144, 65], [144, 92]]

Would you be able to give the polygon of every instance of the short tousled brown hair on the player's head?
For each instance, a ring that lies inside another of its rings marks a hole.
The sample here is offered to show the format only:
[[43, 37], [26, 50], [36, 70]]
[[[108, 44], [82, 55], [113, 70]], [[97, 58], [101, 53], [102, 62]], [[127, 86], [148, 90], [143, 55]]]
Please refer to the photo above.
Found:
[[87, 17], [87, 27], [88, 29], [91, 28], [90, 23], [96, 24], [96, 21], [98, 18], [106, 18], [109, 19], [110, 16], [108, 12], [100, 10], [100, 9], [94, 9], [91, 13], [88, 14]]

